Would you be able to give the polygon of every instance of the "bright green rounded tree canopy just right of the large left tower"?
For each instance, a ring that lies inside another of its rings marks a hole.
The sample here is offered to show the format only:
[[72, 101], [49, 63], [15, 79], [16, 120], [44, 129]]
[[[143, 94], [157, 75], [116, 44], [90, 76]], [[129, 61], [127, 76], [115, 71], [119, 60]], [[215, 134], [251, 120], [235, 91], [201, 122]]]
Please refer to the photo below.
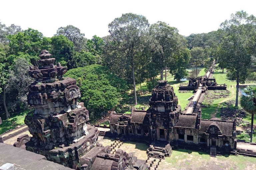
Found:
[[65, 76], [77, 80], [81, 100], [90, 111], [92, 121], [118, 105], [121, 94], [128, 90], [124, 80], [97, 64], [71, 69]]

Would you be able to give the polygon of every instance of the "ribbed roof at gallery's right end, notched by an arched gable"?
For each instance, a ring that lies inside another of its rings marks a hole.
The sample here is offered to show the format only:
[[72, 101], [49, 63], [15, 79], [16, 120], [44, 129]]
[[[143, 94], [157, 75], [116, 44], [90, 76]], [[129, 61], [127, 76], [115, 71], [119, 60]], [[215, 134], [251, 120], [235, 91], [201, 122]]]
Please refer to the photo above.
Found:
[[233, 122], [231, 121], [201, 120], [200, 132], [206, 133], [207, 129], [211, 125], [217, 126], [220, 129], [222, 135], [232, 136]]

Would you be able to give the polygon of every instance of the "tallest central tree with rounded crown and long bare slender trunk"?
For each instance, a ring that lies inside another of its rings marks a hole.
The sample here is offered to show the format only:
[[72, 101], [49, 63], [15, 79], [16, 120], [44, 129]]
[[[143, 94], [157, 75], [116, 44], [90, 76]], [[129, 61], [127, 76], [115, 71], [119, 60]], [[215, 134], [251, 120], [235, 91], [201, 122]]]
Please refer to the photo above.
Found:
[[148, 20], [142, 15], [132, 13], [122, 14], [109, 25], [109, 33], [113, 43], [111, 46], [118, 51], [118, 55], [128, 61], [131, 66], [135, 105], [137, 105], [136, 84], [134, 73], [134, 57], [143, 49], [143, 38], [149, 27]]

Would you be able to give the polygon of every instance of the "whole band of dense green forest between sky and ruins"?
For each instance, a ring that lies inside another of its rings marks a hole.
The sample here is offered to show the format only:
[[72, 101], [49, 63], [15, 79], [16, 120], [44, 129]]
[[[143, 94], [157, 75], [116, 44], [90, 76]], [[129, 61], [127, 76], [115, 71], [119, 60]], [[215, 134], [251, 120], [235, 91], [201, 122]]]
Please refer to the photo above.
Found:
[[[244, 11], [232, 14], [217, 31], [188, 37], [167, 23], [150, 25], [144, 16], [132, 13], [115, 18], [108, 27], [110, 34], [102, 38], [86, 39], [72, 25], [60, 27], [49, 38], [32, 28], [22, 30], [0, 22], [0, 111], [6, 115], [2, 119], [31, 109], [26, 93], [34, 80], [28, 70], [30, 65], [38, 65], [42, 49], [56, 63], [67, 66], [65, 77], [77, 80], [91, 120], [129, 94], [136, 105], [136, 86], [146, 82], [151, 91], [159, 79], [166, 79], [166, 70], [181, 81], [188, 75], [187, 68], [209, 69], [216, 60], [237, 85], [248, 76], [256, 78], [255, 73], [247, 72], [256, 62], [256, 18]], [[236, 95], [237, 106], [238, 89]]]

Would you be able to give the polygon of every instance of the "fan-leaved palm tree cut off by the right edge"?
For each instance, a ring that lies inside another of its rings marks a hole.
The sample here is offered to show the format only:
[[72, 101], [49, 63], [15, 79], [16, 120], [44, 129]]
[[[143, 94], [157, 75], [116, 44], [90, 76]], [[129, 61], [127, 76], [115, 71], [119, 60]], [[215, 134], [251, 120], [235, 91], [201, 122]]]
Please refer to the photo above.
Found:
[[253, 133], [253, 116], [256, 113], [256, 86], [251, 85], [247, 86], [244, 89], [245, 95], [241, 98], [241, 106], [244, 110], [252, 115], [251, 122], [251, 142], [252, 142], [252, 133]]

